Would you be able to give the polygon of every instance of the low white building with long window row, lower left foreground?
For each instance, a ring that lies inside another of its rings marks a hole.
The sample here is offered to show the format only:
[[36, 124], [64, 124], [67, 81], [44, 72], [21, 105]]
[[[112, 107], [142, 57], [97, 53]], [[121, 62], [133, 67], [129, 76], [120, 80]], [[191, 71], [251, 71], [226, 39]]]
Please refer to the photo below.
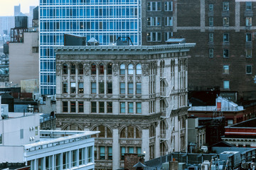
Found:
[[40, 130], [39, 114], [8, 115], [4, 106], [0, 118], [0, 164], [25, 162], [31, 170], [94, 169], [95, 140], [91, 135], [98, 132]]

